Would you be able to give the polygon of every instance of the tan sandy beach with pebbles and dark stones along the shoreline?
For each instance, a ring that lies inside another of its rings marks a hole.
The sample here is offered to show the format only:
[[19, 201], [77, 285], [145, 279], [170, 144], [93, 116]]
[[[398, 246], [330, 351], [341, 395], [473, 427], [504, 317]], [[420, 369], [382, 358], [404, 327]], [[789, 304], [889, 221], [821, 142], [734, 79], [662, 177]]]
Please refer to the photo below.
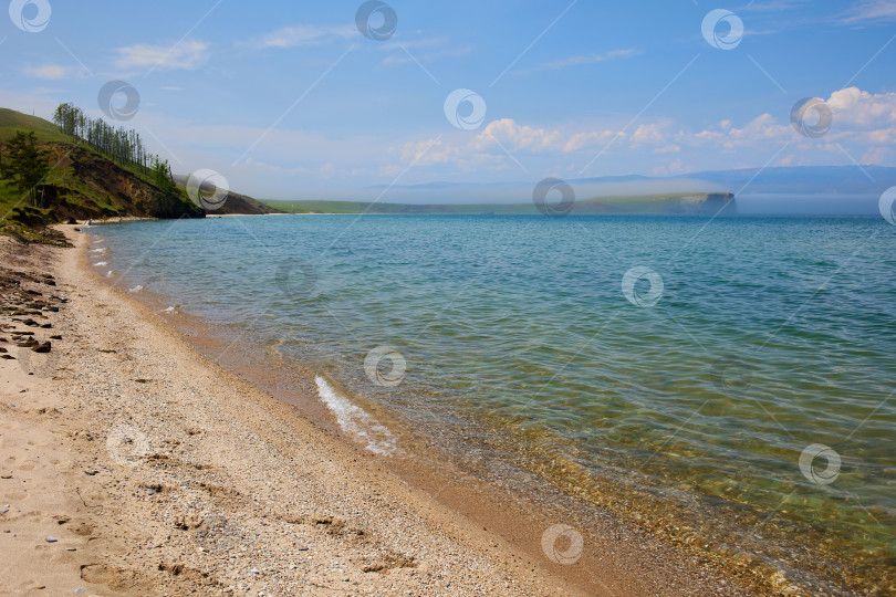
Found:
[[0, 594], [743, 594], [624, 536], [586, 566], [511, 545], [200, 356], [61, 229], [75, 249], [0, 238]]

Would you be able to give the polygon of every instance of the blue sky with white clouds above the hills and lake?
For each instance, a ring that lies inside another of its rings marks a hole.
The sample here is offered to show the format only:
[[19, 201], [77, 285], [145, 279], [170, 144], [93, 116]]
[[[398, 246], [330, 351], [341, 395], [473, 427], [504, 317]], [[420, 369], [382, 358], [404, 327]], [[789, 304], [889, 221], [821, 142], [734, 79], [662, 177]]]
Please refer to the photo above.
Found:
[[[13, 0], [0, 105], [49, 117], [69, 101], [103, 116], [101, 87], [123, 81], [140, 102], [116, 124], [176, 172], [210, 168], [267, 198], [896, 166], [896, 0], [395, 0], [371, 20], [394, 11], [382, 40], [362, 35], [361, 4]], [[716, 9], [726, 17], [705, 35]], [[456, 90], [485, 117], [469, 103], [447, 117]], [[803, 115], [815, 137], [791, 125], [806, 97], [823, 102]], [[823, 109], [830, 126], [815, 122]]]

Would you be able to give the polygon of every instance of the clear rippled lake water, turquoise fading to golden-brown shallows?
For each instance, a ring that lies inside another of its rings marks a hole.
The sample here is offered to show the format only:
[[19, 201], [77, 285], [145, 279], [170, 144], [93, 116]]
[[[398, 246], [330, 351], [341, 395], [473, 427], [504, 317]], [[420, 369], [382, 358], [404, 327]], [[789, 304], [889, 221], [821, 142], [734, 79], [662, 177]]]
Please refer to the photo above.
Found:
[[[111, 249], [103, 273], [248, 331], [469, 454], [488, 443], [765, 576], [896, 582], [896, 228], [883, 219], [314, 216], [94, 232]], [[626, 298], [632, 268], [661, 279], [661, 295], [634, 286], [655, 305]], [[387, 384], [365, 374], [384, 345], [406, 362], [395, 386], [389, 358]], [[813, 452], [801, 470], [813, 444], [838, 470]]]

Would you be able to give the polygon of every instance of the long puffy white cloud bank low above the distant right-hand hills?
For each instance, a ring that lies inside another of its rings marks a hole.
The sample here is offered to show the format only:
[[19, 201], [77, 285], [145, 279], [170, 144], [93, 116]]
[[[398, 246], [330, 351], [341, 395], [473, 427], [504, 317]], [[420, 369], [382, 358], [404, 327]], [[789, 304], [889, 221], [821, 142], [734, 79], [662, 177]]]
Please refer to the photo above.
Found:
[[[419, 158], [421, 165], [452, 164], [469, 169], [483, 164], [496, 167], [497, 161], [511, 164], [511, 158], [504, 154], [508, 151], [540, 154], [548, 159], [569, 163], [576, 159], [575, 154], [593, 157], [598, 148], [612, 144], [615, 155], [637, 151], [644, 155], [646, 147], [657, 158], [666, 156], [669, 161], [657, 167], [664, 174], [671, 174], [680, 171], [684, 163], [692, 161], [696, 155], [709, 159], [715, 155], [756, 154], [760, 156], [758, 159], [768, 159], [767, 153], [771, 155], [791, 143], [800, 153], [795, 154], [795, 158], [781, 158], [781, 165], [813, 164], [816, 163], [813, 156], [817, 159], [822, 154], [836, 154], [840, 157], [844, 148], [863, 156], [867, 164], [883, 164], [893, 159], [895, 153], [889, 147], [896, 145], [896, 93], [874, 94], [851, 87], [833, 92], [826, 103], [834, 119], [825, 143], [802, 137], [791, 125], [789, 113], [780, 112], [777, 115], [763, 113], [743, 124], [723, 119], [696, 132], [676, 127], [673, 121], [666, 118], [640, 123], [627, 130], [613, 127], [588, 130], [581, 125], [539, 127], [520, 124], [513, 118], [501, 118], [488, 123], [472, 139], [458, 137], [439, 142], [408, 142], [402, 158], [405, 161]], [[603, 150], [601, 153], [611, 155]]]

